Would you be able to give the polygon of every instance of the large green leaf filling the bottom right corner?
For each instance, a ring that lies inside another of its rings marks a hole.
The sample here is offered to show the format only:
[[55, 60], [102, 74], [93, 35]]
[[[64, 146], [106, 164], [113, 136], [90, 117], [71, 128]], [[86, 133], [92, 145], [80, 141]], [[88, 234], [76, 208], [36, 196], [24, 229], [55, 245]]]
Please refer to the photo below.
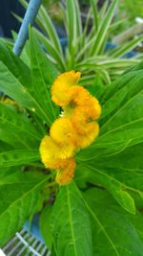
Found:
[[[94, 188], [84, 196], [92, 218], [93, 255], [142, 256], [143, 242], [138, 227], [133, 226], [138, 214], [130, 218], [103, 190]], [[139, 221], [141, 229], [143, 217], [140, 215]]]

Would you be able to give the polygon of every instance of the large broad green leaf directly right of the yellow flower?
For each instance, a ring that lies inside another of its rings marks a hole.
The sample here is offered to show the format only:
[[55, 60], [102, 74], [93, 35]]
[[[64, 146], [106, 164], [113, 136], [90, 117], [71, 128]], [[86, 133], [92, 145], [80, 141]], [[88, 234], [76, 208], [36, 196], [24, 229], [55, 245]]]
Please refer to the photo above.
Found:
[[80, 151], [84, 160], [111, 156], [143, 141], [143, 73], [127, 73], [112, 83], [101, 98], [100, 134]]

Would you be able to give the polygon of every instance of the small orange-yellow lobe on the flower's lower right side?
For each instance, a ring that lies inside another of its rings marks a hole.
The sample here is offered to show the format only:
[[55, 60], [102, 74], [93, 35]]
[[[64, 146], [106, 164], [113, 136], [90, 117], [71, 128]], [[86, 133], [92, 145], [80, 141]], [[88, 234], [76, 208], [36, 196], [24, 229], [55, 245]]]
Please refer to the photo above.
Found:
[[85, 134], [77, 134], [77, 148], [84, 149], [92, 144], [99, 134], [99, 125], [97, 122], [87, 124]]

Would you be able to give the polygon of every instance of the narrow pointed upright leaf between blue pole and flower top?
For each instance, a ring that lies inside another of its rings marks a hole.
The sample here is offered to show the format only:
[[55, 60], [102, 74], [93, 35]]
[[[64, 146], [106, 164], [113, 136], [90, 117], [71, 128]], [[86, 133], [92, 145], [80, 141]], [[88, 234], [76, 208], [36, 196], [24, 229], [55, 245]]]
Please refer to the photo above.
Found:
[[51, 84], [58, 75], [57, 69], [46, 57], [30, 29], [31, 80], [34, 98], [47, 113], [50, 124], [58, 114], [58, 107], [51, 102]]

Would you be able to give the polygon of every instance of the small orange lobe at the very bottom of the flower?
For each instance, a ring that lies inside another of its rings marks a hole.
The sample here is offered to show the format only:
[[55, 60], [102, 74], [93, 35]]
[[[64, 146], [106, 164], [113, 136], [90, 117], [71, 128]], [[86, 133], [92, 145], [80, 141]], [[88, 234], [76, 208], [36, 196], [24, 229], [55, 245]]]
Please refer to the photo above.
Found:
[[60, 185], [67, 185], [71, 183], [74, 170], [75, 170], [75, 160], [73, 158], [67, 159], [67, 166], [61, 170], [57, 170], [55, 180]]

